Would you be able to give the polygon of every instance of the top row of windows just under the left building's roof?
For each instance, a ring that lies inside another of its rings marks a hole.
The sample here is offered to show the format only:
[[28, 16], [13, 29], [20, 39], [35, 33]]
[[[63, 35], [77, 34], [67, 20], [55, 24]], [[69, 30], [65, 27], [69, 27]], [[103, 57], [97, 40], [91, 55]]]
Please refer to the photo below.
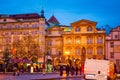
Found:
[[23, 25], [6, 25], [6, 26], [2, 26], [0, 25], [0, 29], [3, 29], [3, 28], [7, 28], [7, 29], [10, 29], [10, 28], [29, 28], [29, 27], [32, 27], [32, 28], [37, 28], [39, 26], [45, 26], [45, 24], [23, 24]]

